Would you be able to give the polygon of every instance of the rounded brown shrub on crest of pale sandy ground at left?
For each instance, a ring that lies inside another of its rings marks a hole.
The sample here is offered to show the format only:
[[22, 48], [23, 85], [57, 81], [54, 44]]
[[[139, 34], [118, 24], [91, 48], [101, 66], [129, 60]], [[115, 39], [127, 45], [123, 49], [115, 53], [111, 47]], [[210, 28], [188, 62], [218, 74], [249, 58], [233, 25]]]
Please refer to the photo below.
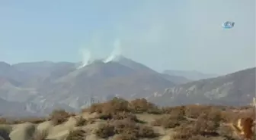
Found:
[[59, 125], [66, 122], [70, 116], [65, 110], [53, 110], [52, 114], [50, 114], [50, 120], [52, 120], [53, 125]]

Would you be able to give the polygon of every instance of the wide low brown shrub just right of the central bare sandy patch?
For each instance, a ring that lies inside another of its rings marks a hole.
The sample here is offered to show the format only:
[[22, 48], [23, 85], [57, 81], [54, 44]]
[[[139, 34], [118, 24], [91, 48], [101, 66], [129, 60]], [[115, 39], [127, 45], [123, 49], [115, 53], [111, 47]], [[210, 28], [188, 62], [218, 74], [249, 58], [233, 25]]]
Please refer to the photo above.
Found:
[[161, 117], [159, 119], [156, 119], [152, 125], [153, 126], [163, 126], [165, 128], [174, 128], [176, 126], [180, 126], [181, 123], [184, 123], [186, 119], [184, 117], [181, 117], [179, 115], [165, 115], [164, 117]]

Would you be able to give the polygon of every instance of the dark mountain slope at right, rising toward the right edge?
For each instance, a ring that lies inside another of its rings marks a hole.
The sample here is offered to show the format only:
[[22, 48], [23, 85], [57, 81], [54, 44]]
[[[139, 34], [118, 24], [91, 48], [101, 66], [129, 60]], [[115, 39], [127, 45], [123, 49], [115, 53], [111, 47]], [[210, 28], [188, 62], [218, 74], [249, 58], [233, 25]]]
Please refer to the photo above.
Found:
[[256, 97], [256, 67], [165, 89], [149, 98], [161, 105], [248, 105]]

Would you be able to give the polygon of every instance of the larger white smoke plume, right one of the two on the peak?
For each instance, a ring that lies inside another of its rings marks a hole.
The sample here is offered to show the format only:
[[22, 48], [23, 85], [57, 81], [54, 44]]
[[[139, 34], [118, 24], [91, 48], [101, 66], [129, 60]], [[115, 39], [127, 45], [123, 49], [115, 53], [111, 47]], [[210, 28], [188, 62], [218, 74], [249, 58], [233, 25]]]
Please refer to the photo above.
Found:
[[114, 50], [111, 52], [110, 56], [108, 56], [105, 60], [104, 63], [113, 61], [115, 58], [119, 57], [122, 54], [122, 49], [120, 45], [120, 40], [115, 39], [114, 41]]

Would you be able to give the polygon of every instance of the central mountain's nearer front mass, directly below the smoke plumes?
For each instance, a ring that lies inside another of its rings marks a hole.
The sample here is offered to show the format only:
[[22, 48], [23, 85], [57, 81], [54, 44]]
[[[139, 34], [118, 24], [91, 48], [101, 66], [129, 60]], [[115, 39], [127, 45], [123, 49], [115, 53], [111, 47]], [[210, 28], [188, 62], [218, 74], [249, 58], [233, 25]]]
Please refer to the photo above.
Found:
[[136, 70], [117, 61], [94, 61], [50, 85], [41, 86], [40, 93], [46, 101], [59, 101], [80, 108], [88, 104], [86, 101], [91, 96], [101, 101], [113, 94], [128, 99], [142, 98], [168, 86], [174, 86], [174, 83], [158, 73]]

